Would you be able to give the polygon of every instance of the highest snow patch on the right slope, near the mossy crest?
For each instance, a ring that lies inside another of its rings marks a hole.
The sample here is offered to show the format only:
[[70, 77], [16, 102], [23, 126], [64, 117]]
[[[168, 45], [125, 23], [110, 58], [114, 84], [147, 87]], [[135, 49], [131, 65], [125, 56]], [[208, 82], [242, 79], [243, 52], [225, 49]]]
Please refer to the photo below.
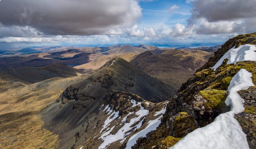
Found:
[[242, 61], [256, 61], [256, 47], [254, 45], [241, 45], [238, 48], [231, 48], [224, 56], [212, 67], [214, 71], [222, 65], [224, 59], [228, 59], [227, 64], [236, 64]]

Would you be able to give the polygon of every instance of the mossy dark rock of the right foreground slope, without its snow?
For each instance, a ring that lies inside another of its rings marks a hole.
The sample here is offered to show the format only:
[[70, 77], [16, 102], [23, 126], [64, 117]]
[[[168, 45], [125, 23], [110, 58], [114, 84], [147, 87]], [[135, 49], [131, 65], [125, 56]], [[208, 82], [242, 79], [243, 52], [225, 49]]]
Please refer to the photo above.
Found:
[[[222, 45], [215, 52], [214, 57], [211, 57], [203, 67], [196, 71], [194, 76], [182, 84], [178, 93], [169, 102], [157, 130], [147, 134], [146, 138], [137, 140], [133, 149], [166, 148], [163, 142], [170, 139], [169, 137], [174, 137], [174, 139], [184, 137], [192, 130], [211, 123], [220, 113], [229, 111], [230, 107], [227, 107], [224, 101], [231, 78], [244, 68], [253, 74], [253, 83], [256, 84], [256, 62], [245, 61], [236, 65], [226, 65], [224, 62], [216, 72], [210, 68], [229, 49], [241, 44], [256, 45], [256, 33], [239, 35]], [[255, 148], [255, 87], [240, 91], [239, 94], [245, 99], [245, 111], [236, 115], [236, 118], [247, 134], [250, 148]], [[176, 142], [173, 141], [167, 148]]]

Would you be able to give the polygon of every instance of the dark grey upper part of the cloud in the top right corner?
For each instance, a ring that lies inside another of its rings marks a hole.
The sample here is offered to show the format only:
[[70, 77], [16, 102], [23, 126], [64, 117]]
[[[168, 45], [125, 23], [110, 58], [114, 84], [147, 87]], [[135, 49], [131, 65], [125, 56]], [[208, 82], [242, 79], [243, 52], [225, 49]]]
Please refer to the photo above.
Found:
[[209, 22], [254, 18], [255, 0], [195, 0], [192, 18], [206, 18]]

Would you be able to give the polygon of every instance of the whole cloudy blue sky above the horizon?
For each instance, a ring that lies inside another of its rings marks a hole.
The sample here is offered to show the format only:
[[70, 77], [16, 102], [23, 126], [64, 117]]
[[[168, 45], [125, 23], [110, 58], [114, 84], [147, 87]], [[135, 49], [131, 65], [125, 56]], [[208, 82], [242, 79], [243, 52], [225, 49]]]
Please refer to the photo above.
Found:
[[255, 24], [255, 0], [0, 0], [0, 50], [218, 45]]

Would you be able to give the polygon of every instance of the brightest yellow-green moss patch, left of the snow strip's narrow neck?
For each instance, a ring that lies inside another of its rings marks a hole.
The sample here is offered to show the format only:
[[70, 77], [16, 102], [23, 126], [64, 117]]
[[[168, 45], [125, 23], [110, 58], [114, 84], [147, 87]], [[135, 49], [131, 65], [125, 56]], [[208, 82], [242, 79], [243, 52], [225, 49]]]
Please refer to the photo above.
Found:
[[222, 110], [223, 106], [226, 107], [225, 100], [227, 98], [227, 91], [225, 90], [201, 90], [199, 94], [207, 100], [207, 102], [204, 103], [204, 105], [210, 110]]

